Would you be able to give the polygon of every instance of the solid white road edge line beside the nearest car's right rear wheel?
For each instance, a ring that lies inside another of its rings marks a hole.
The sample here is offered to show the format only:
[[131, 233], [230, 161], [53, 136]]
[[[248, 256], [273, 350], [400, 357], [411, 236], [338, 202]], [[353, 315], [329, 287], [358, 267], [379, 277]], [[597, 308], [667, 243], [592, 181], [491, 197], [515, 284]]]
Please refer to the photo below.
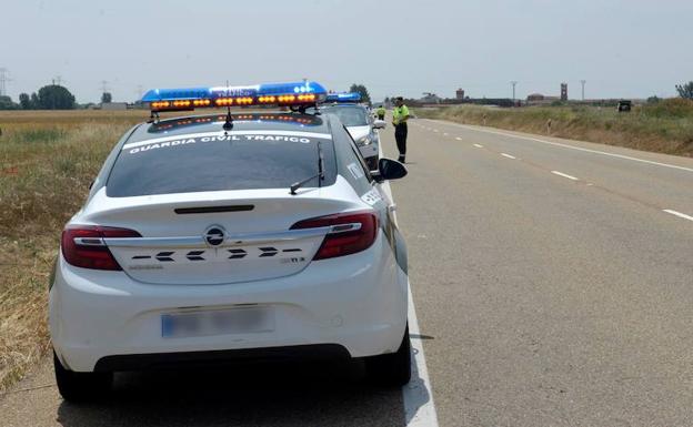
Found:
[[429, 368], [423, 355], [423, 342], [421, 340], [411, 286], [409, 288], [409, 335], [412, 346], [412, 379], [402, 387], [406, 426], [436, 427], [438, 415], [433, 403]]

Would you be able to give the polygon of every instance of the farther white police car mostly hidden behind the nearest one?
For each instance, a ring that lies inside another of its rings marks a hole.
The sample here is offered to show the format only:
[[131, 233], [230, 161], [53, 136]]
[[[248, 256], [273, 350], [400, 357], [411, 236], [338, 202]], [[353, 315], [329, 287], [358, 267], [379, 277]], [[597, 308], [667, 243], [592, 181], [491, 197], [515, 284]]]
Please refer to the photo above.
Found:
[[378, 160], [382, 156], [378, 130], [384, 129], [385, 122], [374, 120], [369, 108], [360, 104], [360, 101], [361, 94], [356, 92], [330, 93], [320, 110], [340, 118], [356, 142], [369, 169], [376, 170]]

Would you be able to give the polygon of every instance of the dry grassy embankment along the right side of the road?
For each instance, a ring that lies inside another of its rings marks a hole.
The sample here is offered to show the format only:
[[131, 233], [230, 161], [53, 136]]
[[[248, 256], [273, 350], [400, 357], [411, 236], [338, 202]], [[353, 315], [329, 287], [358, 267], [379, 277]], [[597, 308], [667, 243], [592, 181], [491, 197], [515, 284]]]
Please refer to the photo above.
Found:
[[[693, 156], [693, 100], [652, 99], [630, 113], [586, 105], [420, 108], [416, 115]], [[549, 126], [549, 122], [551, 125]]]

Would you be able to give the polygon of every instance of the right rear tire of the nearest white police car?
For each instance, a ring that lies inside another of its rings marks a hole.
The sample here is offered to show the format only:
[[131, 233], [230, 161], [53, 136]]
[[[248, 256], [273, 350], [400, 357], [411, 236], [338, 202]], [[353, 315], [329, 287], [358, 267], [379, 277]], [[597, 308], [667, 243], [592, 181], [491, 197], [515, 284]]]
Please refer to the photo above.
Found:
[[402, 387], [411, 379], [411, 344], [409, 325], [395, 353], [365, 358], [368, 378], [381, 386]]

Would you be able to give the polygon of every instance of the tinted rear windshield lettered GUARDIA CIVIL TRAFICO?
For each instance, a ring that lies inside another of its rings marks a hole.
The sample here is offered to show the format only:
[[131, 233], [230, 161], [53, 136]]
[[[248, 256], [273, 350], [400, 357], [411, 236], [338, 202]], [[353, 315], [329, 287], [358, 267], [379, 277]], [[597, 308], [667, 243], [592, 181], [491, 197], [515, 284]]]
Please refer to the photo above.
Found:
[[[107, 182], [110, 197], [221, 190], [289, 189], [318, 173], [318, 142], [325, 180], [337, 179], [331, 136], [310, 132], [221, 132], [127, 143]], [[305, 187], [318, 186], [318, 179]]]

